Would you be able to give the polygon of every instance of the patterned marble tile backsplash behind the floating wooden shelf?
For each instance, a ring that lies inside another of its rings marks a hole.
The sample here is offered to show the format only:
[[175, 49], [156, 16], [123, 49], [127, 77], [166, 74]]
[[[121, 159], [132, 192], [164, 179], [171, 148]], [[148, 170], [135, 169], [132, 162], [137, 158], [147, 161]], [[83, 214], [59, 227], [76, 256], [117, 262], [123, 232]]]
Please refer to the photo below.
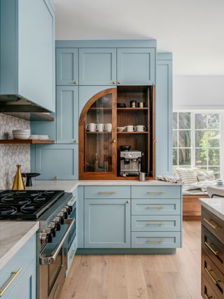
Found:
[[[29, 129], [29, 121], [0, 113], [0, 139], [13, 138], [12, 130]], [[30, 172], [30, 146], [27, 144], [0, 144], [0, 190], [10, 189], [21, 164], [22, 172]]]

